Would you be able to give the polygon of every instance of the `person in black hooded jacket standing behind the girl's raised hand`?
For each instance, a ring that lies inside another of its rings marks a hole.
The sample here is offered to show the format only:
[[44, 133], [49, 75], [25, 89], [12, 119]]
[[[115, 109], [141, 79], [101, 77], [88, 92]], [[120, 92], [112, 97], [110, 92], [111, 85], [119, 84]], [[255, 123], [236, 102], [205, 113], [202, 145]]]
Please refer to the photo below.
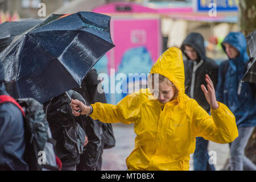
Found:
[[[205, 75], [212, 79], [214, 88], [217, 85], [218, 65], [205, 55], [204, 38], [197, 32], [190, 33], [185, 38], [181, 51], [187, 58], [184, 61], [185, 70], [185, 94], [194, 98], [207, 113], [210, 113], [210, 105], [201, 90], [201, 84], [206, 84]], [[195, 171], [214, 171], [213, 164], [209, 164], [208, 140], [202, 137], [196, 138], [196, 150], [193, 155]]]

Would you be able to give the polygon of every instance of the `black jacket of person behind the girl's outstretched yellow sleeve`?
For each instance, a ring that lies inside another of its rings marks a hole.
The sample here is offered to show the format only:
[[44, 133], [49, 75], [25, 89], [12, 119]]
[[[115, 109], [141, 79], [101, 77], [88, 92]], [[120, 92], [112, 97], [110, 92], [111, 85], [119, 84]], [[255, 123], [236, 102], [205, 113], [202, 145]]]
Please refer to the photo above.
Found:
[[[98, 84], [100, 84], [100, 80], [97, 78], [97, 71], [92, 68], [82, 81], [81, 88], [73, 89], [85, 98], [88, 105], [94, 104], [95, 102], [106, 103], [105, 93], [97, 92]], [[88, 171], [100, 170], [101, 155], [105, 144], [104, 136], [108, 137], [109, 133], [107, 130], [113, 131], [112, 125], [110, 123], [102, 123], [98, 120], [95, 121], [90, 117], [87, 119], [86, 134], [88, 135], [88, 144], [85, 147], [86, 152], [81, 155], [81, 163], [77, 166], [77, 169]], [[113, 139], [113, 137], [109, 137], [108, 139]]]

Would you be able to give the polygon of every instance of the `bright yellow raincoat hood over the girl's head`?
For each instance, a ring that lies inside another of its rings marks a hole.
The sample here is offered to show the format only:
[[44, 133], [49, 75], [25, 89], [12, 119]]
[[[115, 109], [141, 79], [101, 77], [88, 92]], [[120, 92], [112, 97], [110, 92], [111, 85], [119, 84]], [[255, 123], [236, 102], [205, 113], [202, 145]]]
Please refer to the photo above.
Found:
[[183, 96], [185, 75], [180, 49], [176, 47], [167, 49], [152, 66], [150, 73], [158, 73], [168, 78], [179, 90], [178, 98]]

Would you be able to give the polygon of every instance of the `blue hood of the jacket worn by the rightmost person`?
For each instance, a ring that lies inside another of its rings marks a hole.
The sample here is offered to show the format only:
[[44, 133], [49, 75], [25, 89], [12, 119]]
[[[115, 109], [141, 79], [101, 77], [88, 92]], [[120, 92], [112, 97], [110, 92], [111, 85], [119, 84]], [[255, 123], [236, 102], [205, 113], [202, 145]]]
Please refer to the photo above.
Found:
[[226, 38], [221, 43], [221, 46], [225, 51], [225, 46], [223, 43], [229, 43], [239, 51], [239, 56], [233, 59], [238, 64], [246, 63], [246, 61], [249, 60], [249, 56], [247, 55], [247, 51], [246, 51], [247, 44], [246, 44], [245, 36], [243, 36], [241, 32], [230, 32], [226, 36]]

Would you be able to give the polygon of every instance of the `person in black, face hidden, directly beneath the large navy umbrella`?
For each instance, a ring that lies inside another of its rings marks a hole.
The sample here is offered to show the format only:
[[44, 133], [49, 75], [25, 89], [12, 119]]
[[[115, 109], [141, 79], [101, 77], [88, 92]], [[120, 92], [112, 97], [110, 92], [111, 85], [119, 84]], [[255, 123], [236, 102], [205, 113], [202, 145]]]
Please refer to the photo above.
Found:
[[[71, 98], [86, 104], [79, 93], [73, 90], [68, 90], [67, 93]], [[70, 102], [67, 94], [62, 93], [44, 103], [52, 138], [56, 140], [56, 155], [63, 164], [62, 171], [76, 171], [76, 166], [80, 163], [80, 155], [88, 142], [85, 134], [86, 117], [85, 115], [74, 117], [69, 107]]]

